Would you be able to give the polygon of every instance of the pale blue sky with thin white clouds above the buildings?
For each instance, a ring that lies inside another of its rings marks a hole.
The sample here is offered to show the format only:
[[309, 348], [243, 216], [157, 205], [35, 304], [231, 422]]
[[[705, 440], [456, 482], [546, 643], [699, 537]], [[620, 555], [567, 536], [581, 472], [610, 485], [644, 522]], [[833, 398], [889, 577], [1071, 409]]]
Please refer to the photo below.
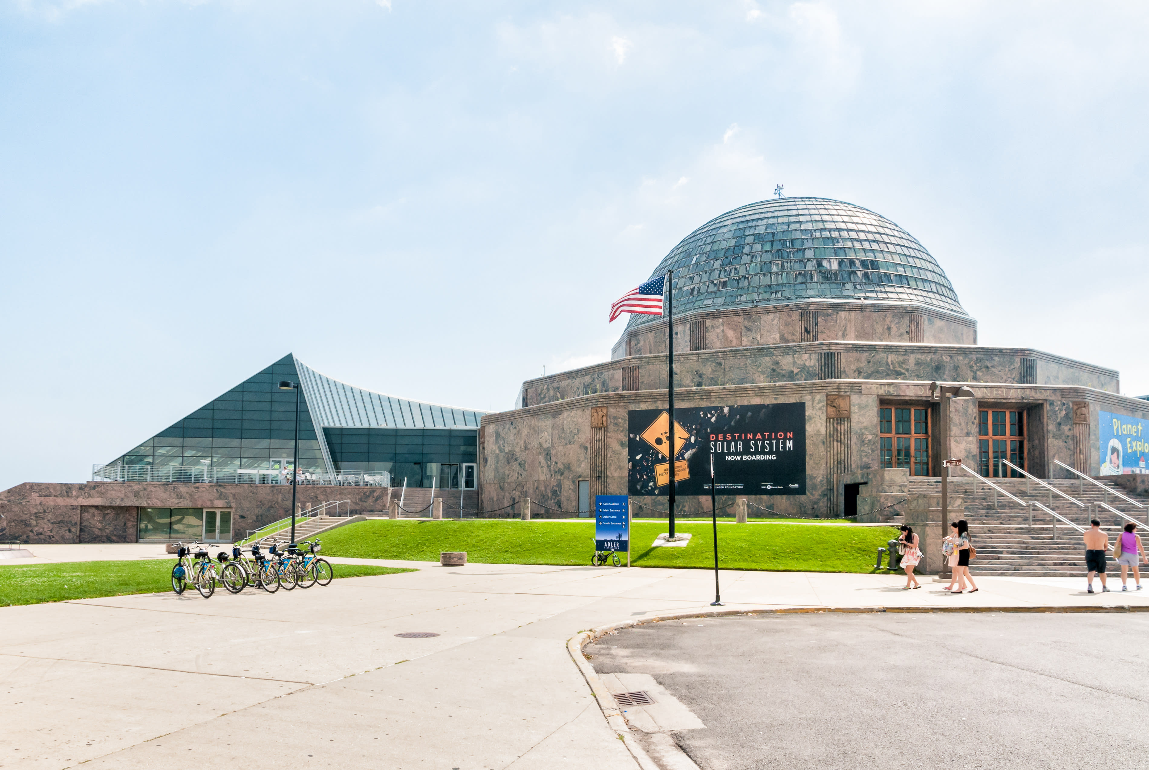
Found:
[[0, 488], [83, 480], [282, 355], [476, 409], [789, 194], [1149, 393], [1149, 5], [0, 5]]

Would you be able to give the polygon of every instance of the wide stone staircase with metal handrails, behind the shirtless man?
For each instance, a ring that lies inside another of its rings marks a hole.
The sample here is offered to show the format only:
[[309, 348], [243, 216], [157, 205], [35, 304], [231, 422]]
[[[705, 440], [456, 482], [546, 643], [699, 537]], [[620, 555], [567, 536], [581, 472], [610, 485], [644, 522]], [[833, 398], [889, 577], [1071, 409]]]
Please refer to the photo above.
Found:
[[[1106, 502], [1139, 522], [1149, 523], [1149, 495], [1131, 493], [1111, 480], [1097, 479], [1105, 486], [1101, 488], [1084, 480], [1046, 479], [1047, 484], [1085, 503], [1084, 508], [1051, 493], [1036, 482], [1012, 478], [992, 480], [1010, 494], [1026, 502], [1038, 501], [1078, 526], [1088, 528], [1089, 519], [1097, 518], [1102, 529], [1109, 534], [1110, 542], [1113, 542], [1126, 519], [1101, 508], [1097, 503]], [[1054, 517], [1035, 506], [1021, 507], [1009, 498], [997, 494], [984, 483], [978, 483], [976, 486], [977, 490], [969, 476], [951, 478], [949, 483], [950, 494], [961, 495], [965, 503], [965, 511], [961, 517], [970, 523], [973, 545], [978, 549], [978, 557], [970, 563], [972, 575], [1075, 577], [1085, 573], [1085, 546], [1080, 532], [1064, 522], [1056, 522], [1055, 529]], [[1117, 498], [1111, 491], [1120, 492], [1146, 508], [1136, 508]], [[911, 495], [940, 494], [940, 478], [909, 479]], [[897, 518], [894, 522], [897, 523]], [[1142, 537], [1149, 538], [1149, 531], [1142, 530]], [[1116, 567], [1110, 556], [1110, 570]]]

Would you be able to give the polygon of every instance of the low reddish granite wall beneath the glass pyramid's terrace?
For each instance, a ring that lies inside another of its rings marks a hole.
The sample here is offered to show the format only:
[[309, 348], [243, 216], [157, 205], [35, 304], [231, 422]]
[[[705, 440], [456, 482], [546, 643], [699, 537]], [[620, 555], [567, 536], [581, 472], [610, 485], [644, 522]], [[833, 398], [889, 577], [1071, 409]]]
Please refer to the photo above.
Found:
[[[300, 486], [298, 505], [349, 500], [350, 514], [383, 513], [386, 487]], [[244, 537], [291, 514], [291, 487], [270, 484], [18, 484], [0, 492], [0, 540], [134, 542], [139, 508], [230, 508]], [[347, 510], [346, 506], [340, 513]]]

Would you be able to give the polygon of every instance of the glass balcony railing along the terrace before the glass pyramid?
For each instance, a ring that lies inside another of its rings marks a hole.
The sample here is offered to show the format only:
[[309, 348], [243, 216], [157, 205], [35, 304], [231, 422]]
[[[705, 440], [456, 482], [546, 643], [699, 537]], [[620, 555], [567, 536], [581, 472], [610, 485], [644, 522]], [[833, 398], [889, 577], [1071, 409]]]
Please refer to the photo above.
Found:
[[[239, 468], [217, 470], [196, 465], [92, 465], [93, 482], [159, 482], [162, 484], [284, 484], [291, 470]], [[391, 486], [391, 473], [299, 472], [300, 486]]]

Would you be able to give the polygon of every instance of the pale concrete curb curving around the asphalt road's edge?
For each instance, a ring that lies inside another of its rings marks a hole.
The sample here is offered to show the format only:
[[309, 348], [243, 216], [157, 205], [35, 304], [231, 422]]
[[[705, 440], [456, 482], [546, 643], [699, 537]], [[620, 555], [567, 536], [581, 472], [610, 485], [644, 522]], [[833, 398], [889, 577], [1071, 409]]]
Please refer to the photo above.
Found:
[[862, 615], [871, 613], [1149, 613], [1149, 605], [1117, 605], [1113, 607], [789, 607], [780, 609], [715, 609], [700, 611], [671, 613], [669, 615], [651, 615], [650, 617], [634, 621], [619, 621], [608, 623], [588, 631], [579, 631], [566, 640], [566, 652], [578, 667], [586, 684], [591, 687], [591, 694], [602, 709], [602, 716], [607, 719], [607, 725], [615, 731], [615, 734], [626, 746], [626, 749], [638, 762], [641, 770], [660, 770], [654, 760], [646, 753], [642, 746], [631, 737], [631, 729], [623, 718], [623, 711], [607, 693], [607, 686], [599, 678], [597, 672], [587, 662], [583, 653], [583, 646], [588, 641], [596, 641], [614, 631], [632, 629], [649, 623], [661, 623], [663, 621], [685, 621], [699, 617], [731, 617], [735, 615], [815, 615], [822, 613], [842, 613], [847, 615]]

